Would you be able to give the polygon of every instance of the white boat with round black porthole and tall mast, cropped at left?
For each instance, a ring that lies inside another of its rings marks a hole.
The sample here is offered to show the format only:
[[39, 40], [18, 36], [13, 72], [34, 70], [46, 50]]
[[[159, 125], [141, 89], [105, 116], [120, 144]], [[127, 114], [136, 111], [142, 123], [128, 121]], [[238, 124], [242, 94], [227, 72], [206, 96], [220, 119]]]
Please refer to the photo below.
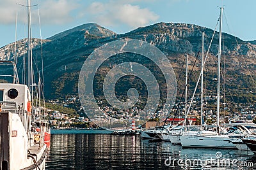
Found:
[[[30, 1], [28, 0], [28, 60], [27, 81], [20, 84], [16, 62], [1, 61], [1, 64], [12, 64], [12, 83], [0, 83], [0, 168], [45, 169], [45, 132], [49, 132], [47, 121], [41, 121], [36, 127], [34, 122], [33, 83], [31, 78], [32, 58], [30, 55]], [[6, 75], [4, 75], [6, 77]]]

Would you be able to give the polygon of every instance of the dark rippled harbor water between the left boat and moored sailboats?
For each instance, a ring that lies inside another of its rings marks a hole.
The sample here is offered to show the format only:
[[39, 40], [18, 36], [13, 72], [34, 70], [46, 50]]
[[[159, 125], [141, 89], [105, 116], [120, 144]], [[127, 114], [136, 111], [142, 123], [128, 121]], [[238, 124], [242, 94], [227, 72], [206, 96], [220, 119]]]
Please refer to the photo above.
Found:
[[256, 155], [182, 149], [140, 136], [52, 134], [45, 169], [256, 169]]

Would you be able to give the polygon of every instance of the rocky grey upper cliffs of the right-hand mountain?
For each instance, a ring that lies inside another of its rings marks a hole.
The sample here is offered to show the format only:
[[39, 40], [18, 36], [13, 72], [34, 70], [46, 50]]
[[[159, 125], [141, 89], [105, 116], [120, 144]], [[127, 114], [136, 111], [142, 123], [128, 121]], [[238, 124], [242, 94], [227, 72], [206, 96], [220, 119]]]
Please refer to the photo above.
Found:
[[[201, 46], [202, 31], [205, 32], [205, 36], [210, 40], [213, 34], [211, 29], [193, 24], [159, 23], [135, 29], [125, 35], [142, 39], [158, 48], [172, 50], [173, 52], [196, 53]], [[234, 36], [223, 33], [223, 39], [227, 53], [234, 53], [236, 51], [237, 54], [246, 54], [251, 48], [255, 50], [255, 46], [252, 47], [246, 44], [246, 41], [242, 41]], [[240, 44], [238, 46], [236, 39]], [[244, 44], [248, 48], [243, 48]], [[242, 51], [239, 51], [239, 48]], [[218, 52], [218, 34], [214, 36], [212, 52], [215, 54]]]

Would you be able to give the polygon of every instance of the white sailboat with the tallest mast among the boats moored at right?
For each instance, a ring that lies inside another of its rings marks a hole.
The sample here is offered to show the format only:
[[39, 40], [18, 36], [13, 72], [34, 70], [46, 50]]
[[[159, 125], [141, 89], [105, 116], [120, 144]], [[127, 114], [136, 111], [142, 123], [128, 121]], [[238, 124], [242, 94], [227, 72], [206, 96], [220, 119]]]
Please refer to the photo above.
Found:
[[[198, 134], [183, 134], [180, 136], [182, 147], [202, 148], [236, 148], [228, 134], [221, 134], [220, 128], [220, 61], [221, 61], [221, 29], [222, 29], [223, 7], [220, 8], [220, 31], [218, 46], [218, 85], [217, 85], [217, 120], [216, 132], [200, 131]], [[202, 121], [202, 120], [201, 120]]]

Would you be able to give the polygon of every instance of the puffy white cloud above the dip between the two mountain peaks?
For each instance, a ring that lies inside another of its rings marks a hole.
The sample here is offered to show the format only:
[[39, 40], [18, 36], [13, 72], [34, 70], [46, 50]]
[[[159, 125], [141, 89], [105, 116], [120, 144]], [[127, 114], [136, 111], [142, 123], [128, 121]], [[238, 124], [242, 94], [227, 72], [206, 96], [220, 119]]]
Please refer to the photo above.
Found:
[[147, 8], [131, 4], [137, 1], [143, 0], [94, 2], [86, 9], [84, 17], [106, 26], [124, 24], [130, 28], [145, 26], [159, 18]]

